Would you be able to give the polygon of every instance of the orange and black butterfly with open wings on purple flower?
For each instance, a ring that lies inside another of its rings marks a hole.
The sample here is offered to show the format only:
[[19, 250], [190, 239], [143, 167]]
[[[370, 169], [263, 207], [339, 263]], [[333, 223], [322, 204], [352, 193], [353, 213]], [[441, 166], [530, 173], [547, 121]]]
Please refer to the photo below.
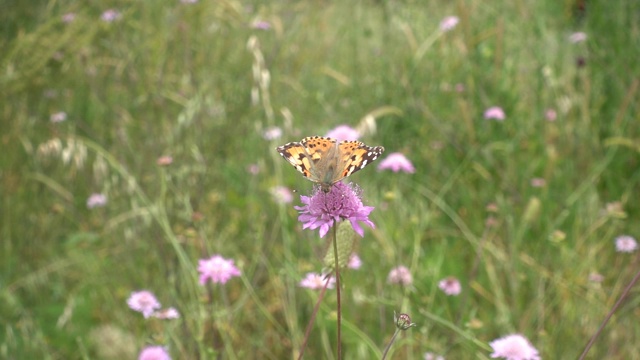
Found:
[[306, 137], [276, 150], [307, 179], [320, 184], [324, 192], [384, 152], [382, 146], [371, 147], [360, 141], [338, 141], [323, 136]]

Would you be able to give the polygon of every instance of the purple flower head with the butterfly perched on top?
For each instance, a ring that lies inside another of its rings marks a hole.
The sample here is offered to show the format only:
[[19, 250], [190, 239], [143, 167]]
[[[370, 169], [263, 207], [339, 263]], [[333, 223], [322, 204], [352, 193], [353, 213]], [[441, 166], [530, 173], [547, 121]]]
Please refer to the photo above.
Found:
[[300, 212], [298, 220], [303, 223], [303, 229], [315, 230], [320, 228], [320, 237], [324, 237], [331, 226], [340, 220], [349, 220], [353, 230], [364, 237], [364, 230], [358, 221], [375, 228], [369, 220], [373, 206], [364, 206], [360, 199], [360, 188], [342, 182], [335, 183], [328, 193], [316, 187], [311, 197], [300, 196], [303, 206], [295, 206]]

